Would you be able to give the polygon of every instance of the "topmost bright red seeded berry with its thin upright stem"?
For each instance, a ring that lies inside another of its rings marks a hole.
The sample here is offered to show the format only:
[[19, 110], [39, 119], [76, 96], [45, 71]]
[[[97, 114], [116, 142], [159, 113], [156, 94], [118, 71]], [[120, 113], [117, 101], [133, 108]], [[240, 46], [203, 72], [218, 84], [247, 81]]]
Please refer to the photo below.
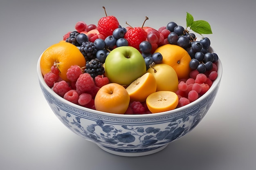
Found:
[[[105, 7], [103, 7], [106, 13]], [[112, 35], [115, 29], [119, 28], [119, 22], [115, 16], [102, 17], [98, 21], [98, 31], [103, 35], [104, 39], [109, 35]]]

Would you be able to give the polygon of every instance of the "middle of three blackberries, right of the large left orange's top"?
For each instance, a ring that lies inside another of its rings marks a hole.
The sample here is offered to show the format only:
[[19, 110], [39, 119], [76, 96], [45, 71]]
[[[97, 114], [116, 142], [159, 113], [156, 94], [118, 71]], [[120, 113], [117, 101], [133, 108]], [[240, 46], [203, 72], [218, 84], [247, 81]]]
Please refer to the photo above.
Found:
[[83, 42], [80, 46], [81, 53], [85, 57], [86, 61], [90, 61], [96, 58], [97, 49], [94, 46], [93, 42]]

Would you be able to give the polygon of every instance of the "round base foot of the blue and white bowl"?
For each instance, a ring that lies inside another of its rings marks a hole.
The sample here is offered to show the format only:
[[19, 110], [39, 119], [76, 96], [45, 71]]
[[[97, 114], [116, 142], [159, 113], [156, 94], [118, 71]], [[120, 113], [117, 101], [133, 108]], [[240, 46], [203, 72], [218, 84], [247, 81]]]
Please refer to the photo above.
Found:
[[105, 150], [106, 152], [109, 152], [114, 155], [124, 156], [124, 157], [139, 157], [139, 156], [145, 156], [150, 155], [156, 152], [159, 152], [166, 148], [168, 144], [165, 144], [163, 146], [157, 146], [154, 148], [146, 148], [146, 149], [120, 149], [120, 148], [111, 148], [109, 146], [103, 146], [100, 144], [97, 144], [99, 148], [102, 150]]

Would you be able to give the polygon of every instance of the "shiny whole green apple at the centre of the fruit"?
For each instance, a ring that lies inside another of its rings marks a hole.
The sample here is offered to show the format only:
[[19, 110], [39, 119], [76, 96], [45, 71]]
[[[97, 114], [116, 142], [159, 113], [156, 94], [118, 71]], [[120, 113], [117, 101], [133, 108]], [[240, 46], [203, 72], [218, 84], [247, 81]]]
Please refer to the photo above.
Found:
[[105, 74], [112, 83], [128, 86], [145, 73], [145, 60], [132, 46], [117, 47], [106, 57]]

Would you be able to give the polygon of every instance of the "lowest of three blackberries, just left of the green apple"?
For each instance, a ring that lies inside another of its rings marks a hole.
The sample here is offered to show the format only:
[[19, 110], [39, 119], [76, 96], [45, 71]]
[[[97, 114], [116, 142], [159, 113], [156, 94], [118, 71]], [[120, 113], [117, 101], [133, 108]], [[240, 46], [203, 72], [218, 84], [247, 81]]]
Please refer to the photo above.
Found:
[[92, 78], [105, 73], [103, 64], [97, 58], [87, 61], [85, 67], [85, 73], [89, 73]]

